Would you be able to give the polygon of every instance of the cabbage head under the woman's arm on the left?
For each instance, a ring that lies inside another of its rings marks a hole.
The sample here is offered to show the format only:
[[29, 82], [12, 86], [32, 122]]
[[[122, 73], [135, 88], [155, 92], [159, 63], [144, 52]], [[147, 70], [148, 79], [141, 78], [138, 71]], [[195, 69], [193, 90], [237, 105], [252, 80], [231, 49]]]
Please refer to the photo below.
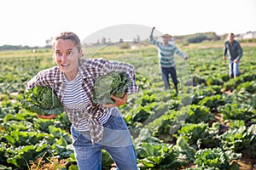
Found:
[[29, 89], [24, 94], [20, 104], [27, 111], [38, 113], [38, 115], [59, 115], [64, 111], [64, 107], [54, 90], [46, 86], [36, 86]]

